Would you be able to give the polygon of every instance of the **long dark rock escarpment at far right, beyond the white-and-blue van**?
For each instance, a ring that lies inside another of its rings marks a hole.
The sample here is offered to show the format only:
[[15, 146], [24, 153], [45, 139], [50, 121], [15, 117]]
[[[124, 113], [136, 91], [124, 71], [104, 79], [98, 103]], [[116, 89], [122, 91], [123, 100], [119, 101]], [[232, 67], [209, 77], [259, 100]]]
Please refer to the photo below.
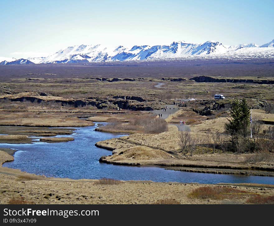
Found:
[[230, 82], [230, 83], [257, 83], [257, 84], [274, 84], [273, 80], [268, 79], [238, 79], [238, 78], [225, 78], [225, 77], [210, 77], [210, 76], [197, 76], [189, 80], [196, 82]]

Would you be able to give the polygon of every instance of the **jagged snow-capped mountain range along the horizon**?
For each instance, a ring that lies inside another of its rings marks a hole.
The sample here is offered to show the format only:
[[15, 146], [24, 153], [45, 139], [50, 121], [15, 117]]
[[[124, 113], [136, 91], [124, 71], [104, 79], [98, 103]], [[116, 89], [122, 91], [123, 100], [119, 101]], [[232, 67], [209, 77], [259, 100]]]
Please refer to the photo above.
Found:
[[0, 64], [40, 64], [40, 63], [90, 63], [105, 61], [143, 61], [179, 59], [187, 57], [205, 58], [274, 58], [274, 39], [261, 46], [255, 43], [225, 46], [220, 42], [207, 41], [201, 44], [173, 42], [170, 45], [106, 47], [102, 45], [80, 45], [67, 47], [47, 57], [30, 57], [28, 59], [2, 59]]

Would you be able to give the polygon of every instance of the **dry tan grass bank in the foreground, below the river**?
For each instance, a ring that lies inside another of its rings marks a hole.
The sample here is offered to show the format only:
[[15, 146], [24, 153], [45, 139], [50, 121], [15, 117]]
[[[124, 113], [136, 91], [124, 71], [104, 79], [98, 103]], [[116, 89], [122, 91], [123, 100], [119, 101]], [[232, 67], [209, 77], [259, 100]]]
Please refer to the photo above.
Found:
[[[180, 204], [246, 204], [254, 195], [274, 195], [273, 185], [223, 184], [203, 185], [197, 183], [155, 183], [151, 181], [120, 181], [103, 184], [92, 179], [47, 178], [17, 169], [2, 167], [13, 157], [0, 151], [0, 204], [11, 199], [23, 199], [26, 204], [156, 204], [168, 200]], [[192, 198], [189, 194], [201, 187], [222, 187], [243, 191], [218, 200]], [[152, 195], [153, 194], [153, 195]]]

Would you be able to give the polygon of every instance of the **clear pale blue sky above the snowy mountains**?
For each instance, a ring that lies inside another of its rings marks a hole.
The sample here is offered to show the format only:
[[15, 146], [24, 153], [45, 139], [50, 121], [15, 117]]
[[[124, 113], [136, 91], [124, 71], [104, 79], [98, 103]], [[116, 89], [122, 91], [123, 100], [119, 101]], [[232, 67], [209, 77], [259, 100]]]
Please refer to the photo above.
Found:
[[38, 57], [80, 44], [225, 45], [274, 38], [274, 0], [0, 0], [0, 56]]

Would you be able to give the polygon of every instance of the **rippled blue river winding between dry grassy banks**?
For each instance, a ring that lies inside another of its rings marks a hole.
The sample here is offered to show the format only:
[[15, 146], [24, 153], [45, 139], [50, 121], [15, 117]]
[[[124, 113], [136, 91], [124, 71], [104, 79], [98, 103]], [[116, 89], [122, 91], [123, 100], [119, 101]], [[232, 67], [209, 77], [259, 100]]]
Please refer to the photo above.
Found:
[[6, 162], [3, 166], [48, 177], [71, 179], [112, 178], [155, 182], [274, 184], [274, 177], [191, 173], [154, 166], [99, 163], [99, 158], [111, 155], [111, 151], [95, 147], [94, 144], [122, 135], [94, 131], [96, 126], [75, 128], [75, 133], [69, 135], [75, 140], [70, 142], [45, 143], [34, 140], [32, 144], [0, 144], [0, 148], [18, 150], [15, 152], [14, 161]]

